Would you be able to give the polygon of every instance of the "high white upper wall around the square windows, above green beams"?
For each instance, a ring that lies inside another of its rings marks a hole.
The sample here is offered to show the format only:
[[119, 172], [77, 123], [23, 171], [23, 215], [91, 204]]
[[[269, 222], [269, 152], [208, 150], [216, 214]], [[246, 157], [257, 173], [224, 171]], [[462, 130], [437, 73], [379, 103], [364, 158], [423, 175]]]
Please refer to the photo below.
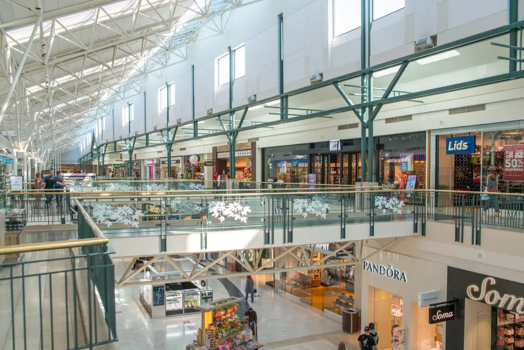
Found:
[[[169, 124], [178, 118], [191, 118], [191, 65], [195, 76], [195, 116], [208, 108], [219, 112], [228, 104], [227, 86], [215, 86], [215, 59], [228, 46], [246, 45], [246, 75], [235, 81], [233, 105], [243, 105], [247, 96], [264, 99], [277, 93], [277, 16], [284, 17], [284, 80], [290, 91], [309, 85], [311, 74], [323, 72], [334, 78], [360, 68], [360, 28], [332, 37], [332, 0], [266, 0], [224, 14], [227, 23], [222, 35], [201, 27], [203, 40], [189, 47], [189, 58], [168, 67], [161, 79], [149, 75], [144, 92], [114, 104], [114, 139], [167, 126], [166, 111], [159, 111], [158, 90], [175, 83], [176, 103], [170, 108]], [[438, 43], [455, 40], [506, 23], [506, 1], [406, 0], [405, 8], [379, 18], [372, 27], [372, 64], [414, 51], [413, 41], [438, 34]], [[524, 6], [522, 6], [524, 7]], [[246, 25], [246, 24], [249, 25]], [[180, 60], [180, 58], [177, 58]], [[174, 62], [174, 58], [171, 59]], [[135, 104], [131, 132], [122, 125], [122, 105]], [[144, 126], [144, 111], [146, 126]], [[113, 140], [113, 118], [106, 118], [106, 129], [99, 143]], [[322, 123], [323, 121], [316, 121]], [[146, 129], [146, 130], [145, 130]], [[201, 141], [202, 143], [202, 141]], [[206, 143], [204, 140], [203, 143]]]

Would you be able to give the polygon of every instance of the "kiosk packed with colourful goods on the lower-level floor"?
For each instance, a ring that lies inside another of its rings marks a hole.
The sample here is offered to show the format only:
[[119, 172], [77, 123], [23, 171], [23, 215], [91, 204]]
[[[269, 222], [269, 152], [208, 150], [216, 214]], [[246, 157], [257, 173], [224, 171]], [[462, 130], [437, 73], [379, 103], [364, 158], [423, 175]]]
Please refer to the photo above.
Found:
[[238, 315], [238, 303], [242, 298], [226, 298], [199, 305], [202, 311], [202, 327], [198, 340], [185, 347], [186, 350], [256, 350], [262, 345], [253, 337], [247, 317]]

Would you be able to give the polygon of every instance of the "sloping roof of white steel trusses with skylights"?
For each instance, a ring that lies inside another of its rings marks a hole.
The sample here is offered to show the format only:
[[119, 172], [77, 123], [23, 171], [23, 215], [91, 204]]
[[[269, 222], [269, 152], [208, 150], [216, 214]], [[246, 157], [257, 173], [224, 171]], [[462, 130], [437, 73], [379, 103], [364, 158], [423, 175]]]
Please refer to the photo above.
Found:
[[221, 35], [232, 10], [263, 0], [32, 1], [0, 0], [0, 122], [43, 158], [77, 146], [112, 103]]

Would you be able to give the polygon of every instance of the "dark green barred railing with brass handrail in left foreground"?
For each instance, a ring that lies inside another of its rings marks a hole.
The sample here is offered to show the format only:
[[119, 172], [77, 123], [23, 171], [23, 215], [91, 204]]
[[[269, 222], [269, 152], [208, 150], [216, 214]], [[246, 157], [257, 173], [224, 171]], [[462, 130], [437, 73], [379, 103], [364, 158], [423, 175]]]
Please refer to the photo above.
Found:
[[91, 218], [79, 214], [79, 234], [70, 240], [0, 247], [0, 256], [18, 256], [0, 264], [1, 348], [82, 349], [117, 341], [112, 252]]

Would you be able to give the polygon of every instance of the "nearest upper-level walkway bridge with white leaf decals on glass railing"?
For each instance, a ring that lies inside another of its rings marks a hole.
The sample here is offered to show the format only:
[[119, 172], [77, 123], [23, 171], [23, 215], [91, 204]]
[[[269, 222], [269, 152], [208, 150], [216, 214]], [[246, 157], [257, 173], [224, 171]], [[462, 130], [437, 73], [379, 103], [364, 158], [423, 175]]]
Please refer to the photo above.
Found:
[[[202, 181], [90, 184], [78, 187], [84, 191], [72, 186], [68, 192], [13, 191], [10, 206], [27, 213], [29, 224], [65, 224], [75, 223], [81, 203], [117, 256], [424, 236], [427, 220], [453, 223], [455, 242], [473, 245], [481, 245], [483, 226], [524, 228], [521, 194], [499, 193], [486, 201], [475, 192], [311, 184], [232, 181], [230, 189]], [[500, 212], [483, 211], [486, 203], [497, 203]]]

